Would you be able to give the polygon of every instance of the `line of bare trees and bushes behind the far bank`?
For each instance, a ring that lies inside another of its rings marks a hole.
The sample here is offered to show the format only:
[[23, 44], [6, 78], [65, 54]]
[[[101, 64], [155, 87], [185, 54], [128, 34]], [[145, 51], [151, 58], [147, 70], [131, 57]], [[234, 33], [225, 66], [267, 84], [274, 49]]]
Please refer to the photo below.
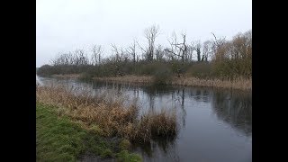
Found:
[[127, 48], [112, 44], [112, 55], [103, 56], [103, 46], [94, 45], [90, 52], [76, 49], [60, 53], [50, 65], [39, 68], [38, 75], [82, 74], [92, 76], [176, 75], [200, 78], [249, 78], [252, 76], [252, 30], [238, 33], [232, 40], [218, 38], [203, 43], [186, 40], [186, 34], [173, 33], [169, 47], [155, 43], [159, 28], [144, 31], [147, 45], [137, 40]]

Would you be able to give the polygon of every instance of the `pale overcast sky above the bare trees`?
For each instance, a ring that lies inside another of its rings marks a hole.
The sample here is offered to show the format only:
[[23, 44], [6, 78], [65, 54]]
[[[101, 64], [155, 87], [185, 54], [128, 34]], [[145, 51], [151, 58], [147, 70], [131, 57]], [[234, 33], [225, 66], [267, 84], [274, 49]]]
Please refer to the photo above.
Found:
[[145, 45], [143, 31], [157, 24], [156, 43], [166, 45], [175, 31], [186, 40], [211, 40], [211, 31], [231, 39], [252, 29], [252, 0], [37, 0], [36, 67], [58, 52], [90, 50], [111, 43], [127, 47], [133, 39]]

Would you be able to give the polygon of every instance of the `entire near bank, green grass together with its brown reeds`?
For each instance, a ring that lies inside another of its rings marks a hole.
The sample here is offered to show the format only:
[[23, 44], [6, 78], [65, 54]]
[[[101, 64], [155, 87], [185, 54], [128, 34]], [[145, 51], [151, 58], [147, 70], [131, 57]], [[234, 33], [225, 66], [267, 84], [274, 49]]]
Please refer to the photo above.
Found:
[[119, 161], [140, 161], [129, 153], [133, 143], [153, 137], [175, 137], [175, 112], [139, 114], [136, 103], [124, 105], [121, 94], [92, 95], [66, 85], [38, 86], [37, 159], [75, 161], [85, 154]]

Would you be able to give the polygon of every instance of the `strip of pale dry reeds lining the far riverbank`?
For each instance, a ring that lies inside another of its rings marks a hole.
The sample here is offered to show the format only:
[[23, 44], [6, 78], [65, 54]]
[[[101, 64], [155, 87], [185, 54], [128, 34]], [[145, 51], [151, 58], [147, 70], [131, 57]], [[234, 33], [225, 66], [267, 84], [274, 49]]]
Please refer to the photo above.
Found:
[[[80, 74], [72, 75], [52, 75], [56, 78], [81, 78]], [[112, 76], [112, 77], [92, 77], [94, 80], [133, 83], [133, 84], [152, 84], [153, 76]], [[184, 86], [203, 86], [217, 88], [232, 88], [239, 90], [252, 90], [252, 79], [238, 78], [235, 80], [220, 79], [200, 79], [193, 76], [173, 76], [172, 81], [167, 85], [184, 85]]]

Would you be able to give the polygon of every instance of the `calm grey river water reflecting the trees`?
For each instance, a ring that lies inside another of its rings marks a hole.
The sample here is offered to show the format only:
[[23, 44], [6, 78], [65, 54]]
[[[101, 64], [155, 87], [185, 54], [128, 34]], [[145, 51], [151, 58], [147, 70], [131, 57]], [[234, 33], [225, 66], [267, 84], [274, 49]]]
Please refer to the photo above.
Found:
[[134, 146], [144, 161], [252, 161], [252, 92], [39, 79], [44, 85], [56, 81], [95, 92], [116, 88], [128, 98], [138, 98], [140, 112], [175, 109], [180, 129], [174, 139], [154, 139], [150, 145]]

